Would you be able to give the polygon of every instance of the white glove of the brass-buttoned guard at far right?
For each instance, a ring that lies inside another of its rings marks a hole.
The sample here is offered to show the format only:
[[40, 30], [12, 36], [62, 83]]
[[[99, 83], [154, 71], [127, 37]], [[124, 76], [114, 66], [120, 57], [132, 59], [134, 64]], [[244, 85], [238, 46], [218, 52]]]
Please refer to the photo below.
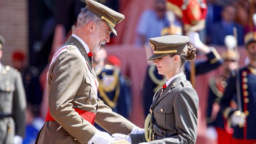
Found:
[[240, 127], [243, 127], [244, 124], [245, 124], [245, 114], [244, 113], [241, 113], [240, 111], [235, 111], [235, 113], [231, 116], [231, 124], [233, 126], [240, 126]]

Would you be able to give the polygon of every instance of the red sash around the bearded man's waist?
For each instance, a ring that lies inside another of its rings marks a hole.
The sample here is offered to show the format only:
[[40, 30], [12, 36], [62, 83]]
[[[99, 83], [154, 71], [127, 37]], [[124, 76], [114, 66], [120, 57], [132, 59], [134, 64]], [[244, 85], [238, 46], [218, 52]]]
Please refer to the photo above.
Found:
[[[78, 108], [74, 108], [74, 109], [86, 121], [88, 121], [92, 125], [94, 124], [95, 113], [93, 113], [91, 111], [78, 109]], [[45, 122], [47, 122], [47, 121], [55, 121], [55, 119], [50, 115], [49, 109], [48, 109], [46, 117], [45, 117]]]

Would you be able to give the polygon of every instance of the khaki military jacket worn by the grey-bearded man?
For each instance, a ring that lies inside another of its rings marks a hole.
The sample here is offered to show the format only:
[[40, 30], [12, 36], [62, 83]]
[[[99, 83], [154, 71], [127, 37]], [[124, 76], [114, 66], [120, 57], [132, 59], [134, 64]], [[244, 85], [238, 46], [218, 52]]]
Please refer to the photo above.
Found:
[[65, 45], [67, 51], [55, 59], [47, 75], [49, 111], [55, 121], [45, 123], [38, 143], [87, 143], [97, 129], [73, 108], [95, 113], [95, 123], [110, 133], [129, 134], [134, 124], [97, 97], [93, 87], [97, 78], [90, 77], [94, 71], [83, 45], [73, 36]]

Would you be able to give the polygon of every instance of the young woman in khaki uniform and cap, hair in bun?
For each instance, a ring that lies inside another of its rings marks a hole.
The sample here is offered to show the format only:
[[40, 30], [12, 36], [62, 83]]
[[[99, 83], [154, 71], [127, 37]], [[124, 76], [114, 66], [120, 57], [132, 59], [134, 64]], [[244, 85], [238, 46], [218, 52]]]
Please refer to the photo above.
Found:
[[198, 96], [186, 75], [183, 65], [193, 60], [196, 49], [188, 44], [189, 37], [169, 35], [150, 38], [153, 60], [158, 73], [167, 79], [154, 96], [145, 133], [113, 134], [131, 143], [195, 143], [197, 137]]

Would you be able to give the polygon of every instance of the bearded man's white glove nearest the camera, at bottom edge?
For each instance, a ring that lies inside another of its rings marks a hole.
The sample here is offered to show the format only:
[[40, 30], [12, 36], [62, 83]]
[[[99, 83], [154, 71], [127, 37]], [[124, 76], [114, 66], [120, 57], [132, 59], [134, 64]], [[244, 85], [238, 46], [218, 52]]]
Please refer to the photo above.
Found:
[[90, 139], [88, 144], [91, 144], [92, 142], [94, 144], [102, 144], [102, 143], [113, 144], [114, 140], [115, 138], [111, 137], [109, 133], [98, 130], [97, 132], [95, 132], [95, 134]]

